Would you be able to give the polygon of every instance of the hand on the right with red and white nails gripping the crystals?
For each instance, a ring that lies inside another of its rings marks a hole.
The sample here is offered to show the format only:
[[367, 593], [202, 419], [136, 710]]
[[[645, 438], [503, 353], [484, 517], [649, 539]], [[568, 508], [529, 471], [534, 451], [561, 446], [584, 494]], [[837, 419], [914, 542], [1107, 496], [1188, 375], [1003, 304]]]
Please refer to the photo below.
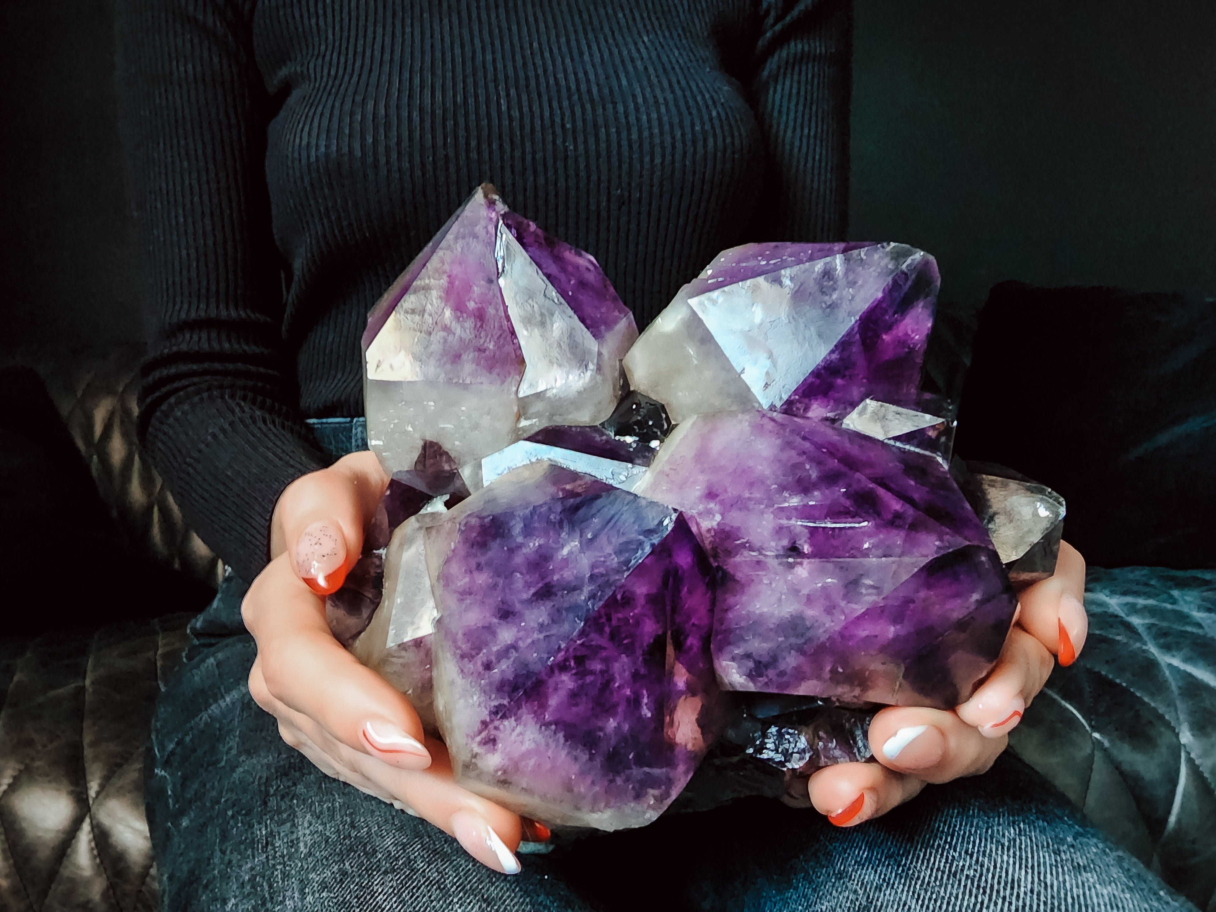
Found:
[[1047, 682], [1054, 665], [1070, 665], [1085, 644], [1088, 620], [1085, 558], [1060, 542], [1055, 575], [1024, 590], [1001, 657], [969, 700], [953, 711], [890, 706], [869, 726], [877, 764], [839, 764], [811, 776], [815, 809], [840, 827], [886, 814], [927, 783], [986, 772], [1009, 732]]

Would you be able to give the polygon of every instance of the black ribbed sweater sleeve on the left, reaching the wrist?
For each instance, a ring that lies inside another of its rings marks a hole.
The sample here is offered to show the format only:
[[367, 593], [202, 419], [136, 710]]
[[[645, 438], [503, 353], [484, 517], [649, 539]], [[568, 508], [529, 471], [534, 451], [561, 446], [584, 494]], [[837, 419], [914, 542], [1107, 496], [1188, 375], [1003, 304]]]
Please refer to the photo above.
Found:
[[146, 282], [140, 441], [246, 580], [283, 488], [326, 465], [283, 350], [252, 0], [119, 0], [119, 118]]

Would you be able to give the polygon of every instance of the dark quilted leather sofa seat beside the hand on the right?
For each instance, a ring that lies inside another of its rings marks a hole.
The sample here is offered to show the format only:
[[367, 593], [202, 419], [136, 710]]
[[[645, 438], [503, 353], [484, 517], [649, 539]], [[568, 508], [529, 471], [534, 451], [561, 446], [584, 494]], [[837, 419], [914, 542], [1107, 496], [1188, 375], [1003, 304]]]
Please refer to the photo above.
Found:
[[1010, 736], [1109, 838], [1216, 912], [1216, 572], [1091, 569], [1090, 635]]

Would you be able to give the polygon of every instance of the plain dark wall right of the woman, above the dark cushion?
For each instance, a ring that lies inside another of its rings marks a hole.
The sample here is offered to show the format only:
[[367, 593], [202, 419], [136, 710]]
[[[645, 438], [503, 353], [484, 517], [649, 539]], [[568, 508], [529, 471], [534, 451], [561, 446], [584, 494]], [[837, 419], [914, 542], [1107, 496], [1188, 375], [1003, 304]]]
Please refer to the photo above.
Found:
[[1006, 278], [1216, 295], [1216, 2], [857, 0], [851, 232]]

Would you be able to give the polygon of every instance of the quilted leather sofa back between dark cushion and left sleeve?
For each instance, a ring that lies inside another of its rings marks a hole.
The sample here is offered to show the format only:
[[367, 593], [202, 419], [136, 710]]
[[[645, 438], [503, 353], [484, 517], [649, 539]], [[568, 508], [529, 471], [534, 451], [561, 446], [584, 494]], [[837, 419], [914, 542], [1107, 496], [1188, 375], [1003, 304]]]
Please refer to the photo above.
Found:
[[136, 444], [140, 350], [118, 348], [22, 359], [46, 382], [60, 415], [135, 550], [192, 579], [219, 585], [223, 568], [191, 531]]

